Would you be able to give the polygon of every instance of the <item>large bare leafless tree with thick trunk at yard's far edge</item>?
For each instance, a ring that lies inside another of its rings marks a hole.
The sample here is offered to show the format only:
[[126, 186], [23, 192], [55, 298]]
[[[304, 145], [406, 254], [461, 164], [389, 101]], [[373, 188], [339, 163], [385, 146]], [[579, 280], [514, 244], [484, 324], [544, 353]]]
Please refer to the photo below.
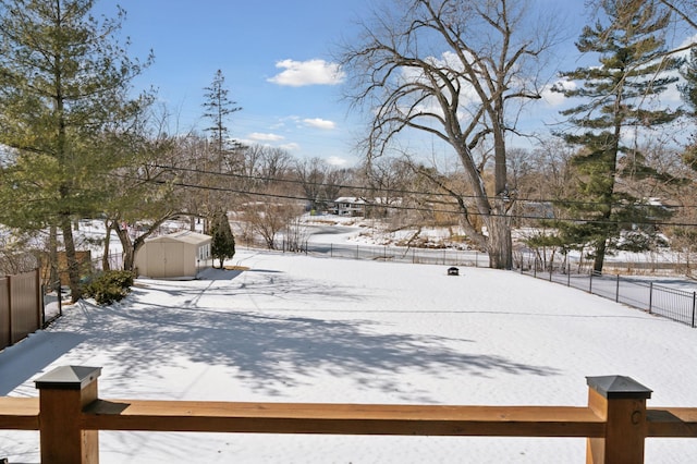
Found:
[[[474, 194], [458, 198], [467, 234], [487, 249], [490, 266], [512, 266], [506, 133], [514, 102], [539, 98], [537, 60], [551, 46], [551, 23], [512, 0], [394, 0], [364, 23], [342, 52], [354, 84], [350, 97], [367, 106], [367, 156], [383, 154], [399, 134], [429, 134], [456, 154]], [[539, 13], [539, 12], [537, 12]], [[530, 66], [533, 64], [533, 66]], [[487, 190], [474, 150], [493, 150]], [[476, 229], [473, 215], [487, 229]]]

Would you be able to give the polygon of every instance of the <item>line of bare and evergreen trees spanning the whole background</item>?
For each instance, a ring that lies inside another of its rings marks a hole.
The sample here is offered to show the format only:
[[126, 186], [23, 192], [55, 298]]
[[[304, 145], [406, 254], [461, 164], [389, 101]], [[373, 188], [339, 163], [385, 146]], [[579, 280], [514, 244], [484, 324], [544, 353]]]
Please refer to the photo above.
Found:
[[[172, 133], [152, 91], [133, 96], [154, 57], [130, 57], [124, 12], [96, 20], [94, 3], [0, 0], [3, 253], [38, 240], [57, 274], [64, 252], [73, 300], [78, 219], [105, 222], [105, 249], [115, 232], [125, 269], [169, 219], [204, 221], [222, 266], [231, 220], [244, 224], [237, 237], [273, 247], [301, 212], [342, 195], [374, 203], [395, 229], [458, 225], [500, 269], [513, 267], [522, 227], [535, 230], [529, 245], [583, 251], [597, 271], [617, 249], [697, 246], [697, 143], [680, 139], [694, 131], [697, 52], [668, 41], [697, 33], [694, 1], [595, 0], [575, 41], [587, 64], [545, 75], [564, 41], [535, 2], [384, 0], [338, 51], [366, 122], [352, 168], [236, 141], [231, 121], [244, 111], [222, 71], [201, 89], [203, 132]], [[682, 105], [670, 106], [662, 97], [676, 85]], [[523, 111], [546, 91], [570, 101], [563, 123], [525, 133]], [[448, 155], [404, 148], [414, 134]], [[535, 142], [519, 148], [512, 136]]]

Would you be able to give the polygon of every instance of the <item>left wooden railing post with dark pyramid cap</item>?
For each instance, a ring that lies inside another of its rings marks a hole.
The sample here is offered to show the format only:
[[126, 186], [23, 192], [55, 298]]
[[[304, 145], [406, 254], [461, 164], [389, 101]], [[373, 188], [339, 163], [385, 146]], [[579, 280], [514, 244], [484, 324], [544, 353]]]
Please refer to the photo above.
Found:
[[62, 366], [35, 380], [41, 462], [99, 463], [98, 430], [83, 430], [83, 407], [97, 400], [101, 367]]

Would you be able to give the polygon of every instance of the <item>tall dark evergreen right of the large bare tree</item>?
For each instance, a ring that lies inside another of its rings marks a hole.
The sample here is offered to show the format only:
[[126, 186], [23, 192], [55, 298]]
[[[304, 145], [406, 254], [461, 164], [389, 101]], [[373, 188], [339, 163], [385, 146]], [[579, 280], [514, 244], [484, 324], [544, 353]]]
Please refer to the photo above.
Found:
[[652, 222], [667, 215], [660, 206], [623, 191], [619, 181], [659, 175], [643, 162], [641, 152], [624, 144], [623, 136], [629, 129], [656, 127], [680, 115], [648, 105], [676, 81], [667, 72], [681, 65], [680, 59], [664, 53], [662, 35], [670, 14], [655, 1], [603, 0], [600, 5], [607, 24], [599, 20], [584, 27], [576, 44], [583, 53], [598, 53], [600, 66], [562, 73], [583, 85], [559, 89], [566, 97], [585, 100], [562, 112], [583, 131], [562, 134], [567, 143], [582, 147], [572, 158], [577, 173], [575, 196], [564, 203], [568, 215], [582, 222], [563, 229], [570, 241], [591, 245], [597, 272], [602, 271], [606, 254], [622, 244], [633, 249], [646, 246], [656, 233]]

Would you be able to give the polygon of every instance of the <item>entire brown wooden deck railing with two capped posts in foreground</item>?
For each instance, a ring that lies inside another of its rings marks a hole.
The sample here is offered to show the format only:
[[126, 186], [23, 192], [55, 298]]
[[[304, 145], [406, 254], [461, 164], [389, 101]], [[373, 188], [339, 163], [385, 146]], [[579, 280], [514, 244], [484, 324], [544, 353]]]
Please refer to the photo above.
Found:
[[39, 430], [42, 463], [96, 464], [98, 430], [582, 437], [586, 462], [643, 463], [647, 437], [697, 437], [697, 408], [647, 408], [628, 377], [588, 377], [588, 405], [443, 406], [102, 400], [101, 368], [36, 380], [38, 399], [0, 398], [0, 429]]

